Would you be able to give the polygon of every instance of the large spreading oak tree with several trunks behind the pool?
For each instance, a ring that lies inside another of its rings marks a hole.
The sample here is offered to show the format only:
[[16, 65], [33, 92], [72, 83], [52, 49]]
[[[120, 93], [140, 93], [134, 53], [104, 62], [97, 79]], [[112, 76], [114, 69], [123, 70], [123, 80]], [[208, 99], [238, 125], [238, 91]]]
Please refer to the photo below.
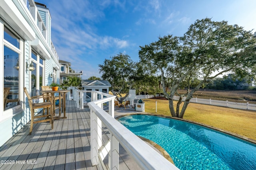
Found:
[[[238, 25], [227, 21], [212, 21], [210, 18], [196, 20], [182, 37], [167, 35], [158, 41], [140, 47], [140, 62], [152, 73], [160, 73], [163, 92], [169, 100], [173, 117], [183, 118], [194, 92], [210, 79], [225, 72], [234, 72], [244, 77], [255, 75], [256, 37]], [[195, 88], [190, 88], [191, 83]], [[165, 87], [168, 84], [170, 92]], [[179, 88], [187, 88], [174, 109], [173, 96]]]

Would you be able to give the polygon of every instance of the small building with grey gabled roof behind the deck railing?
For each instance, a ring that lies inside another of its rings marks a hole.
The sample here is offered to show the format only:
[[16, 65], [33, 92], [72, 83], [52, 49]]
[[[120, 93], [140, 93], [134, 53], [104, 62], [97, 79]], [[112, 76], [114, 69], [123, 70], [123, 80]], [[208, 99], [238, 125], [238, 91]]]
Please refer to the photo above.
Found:
[[94, 90], [107, 93], [111, 84], [107, 80], [82, 80], [82, 90]]

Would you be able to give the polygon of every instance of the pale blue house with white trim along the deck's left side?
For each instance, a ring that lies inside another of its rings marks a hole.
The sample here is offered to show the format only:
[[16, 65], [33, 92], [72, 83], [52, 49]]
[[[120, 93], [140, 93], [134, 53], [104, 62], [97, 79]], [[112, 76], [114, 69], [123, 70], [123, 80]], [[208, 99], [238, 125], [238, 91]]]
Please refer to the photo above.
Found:
[[[60, 80], [60, 64], [51, 41], [51, 16], [34, 0], [0, 1], [0, 146], [30, 121], [26, 87], [36, 96], [41, 86]], [[14, 99], [14, 100], [13, 100]]]

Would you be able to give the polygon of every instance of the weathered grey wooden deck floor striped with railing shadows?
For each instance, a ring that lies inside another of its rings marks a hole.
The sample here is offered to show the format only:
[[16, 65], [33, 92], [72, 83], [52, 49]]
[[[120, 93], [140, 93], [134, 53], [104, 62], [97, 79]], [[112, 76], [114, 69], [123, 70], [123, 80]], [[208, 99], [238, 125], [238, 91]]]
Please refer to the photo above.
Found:
[[66, 102], [67, 119], [55, 120], [53, 130], [48, 122], [37, 123], [28, 135], [29, 122], [0, 147], [1, 170], [102, 169], [90, 161], [89, 109]]

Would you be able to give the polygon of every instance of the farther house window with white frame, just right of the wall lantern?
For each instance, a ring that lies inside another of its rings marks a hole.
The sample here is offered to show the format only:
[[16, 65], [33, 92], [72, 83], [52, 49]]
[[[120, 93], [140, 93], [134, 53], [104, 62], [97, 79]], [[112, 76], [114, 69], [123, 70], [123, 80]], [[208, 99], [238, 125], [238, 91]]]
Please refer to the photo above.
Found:
[[31, 62], [34, 64], [35, 70], [31, 71], [31, 96], [40, 94], [41, 86], [44, 84], [44, 59], [32, 50]]

